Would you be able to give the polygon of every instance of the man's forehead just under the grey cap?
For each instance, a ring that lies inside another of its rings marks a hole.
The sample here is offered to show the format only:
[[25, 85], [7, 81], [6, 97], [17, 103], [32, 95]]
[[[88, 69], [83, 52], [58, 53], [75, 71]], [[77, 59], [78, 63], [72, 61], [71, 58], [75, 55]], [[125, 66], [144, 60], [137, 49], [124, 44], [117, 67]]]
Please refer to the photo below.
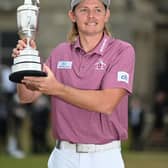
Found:
[[83, 0], [77, 7], [103, 7], [104, 4], [101, 0]]

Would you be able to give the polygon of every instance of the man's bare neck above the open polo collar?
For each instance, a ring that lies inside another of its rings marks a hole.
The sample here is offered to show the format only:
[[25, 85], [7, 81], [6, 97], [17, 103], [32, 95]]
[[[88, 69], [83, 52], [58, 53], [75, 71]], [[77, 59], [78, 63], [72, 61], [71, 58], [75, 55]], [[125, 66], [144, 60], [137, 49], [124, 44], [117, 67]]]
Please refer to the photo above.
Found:
[[80, 36], [80, 43], [85, 52], [93, 50], [103, 37], [102, 34], [96, 36]]

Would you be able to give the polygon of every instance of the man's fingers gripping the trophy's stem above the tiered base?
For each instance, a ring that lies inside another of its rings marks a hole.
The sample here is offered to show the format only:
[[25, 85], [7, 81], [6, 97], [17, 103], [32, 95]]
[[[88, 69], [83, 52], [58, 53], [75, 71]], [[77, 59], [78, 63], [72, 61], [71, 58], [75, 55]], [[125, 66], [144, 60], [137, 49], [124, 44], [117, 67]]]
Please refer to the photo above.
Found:
[[[20, 51], [26, 48], [27, 46], [27, 40], [18, 40], [18, 43], [16, 45], [16, 48], [13, 49], [12, 51], [12, 57], [15, 58], [20, 54]], [[36, 49], [36, 43], [34, 40], [30, 40], [30, 46], [34, 49]]]

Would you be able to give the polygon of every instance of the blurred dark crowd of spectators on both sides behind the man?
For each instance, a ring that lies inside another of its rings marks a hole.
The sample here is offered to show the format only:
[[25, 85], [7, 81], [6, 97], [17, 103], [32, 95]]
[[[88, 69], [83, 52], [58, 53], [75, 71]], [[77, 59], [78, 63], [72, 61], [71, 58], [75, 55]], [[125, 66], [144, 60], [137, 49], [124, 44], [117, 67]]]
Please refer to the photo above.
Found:
[[[8, 79], [11, 68], [0, 66], [0, 154], [24, 158], [23, 135], [27, 135], [33, 154], [51, 152], [48, 138], [50, 130], [50, 104], [41, 96], [32, 104], [20, 104], [16, 84]], [[149, 106], [138, 95], [132, 95], [129, 103], [129, 148], [145, 150], [157, 147], [166, 149], [168, 142], [168, 69], [156, 78], [153, 102]], [[25, 129], [25, 122], [28, 127]], [[168, 148], [167, 148], [168, 149]]]

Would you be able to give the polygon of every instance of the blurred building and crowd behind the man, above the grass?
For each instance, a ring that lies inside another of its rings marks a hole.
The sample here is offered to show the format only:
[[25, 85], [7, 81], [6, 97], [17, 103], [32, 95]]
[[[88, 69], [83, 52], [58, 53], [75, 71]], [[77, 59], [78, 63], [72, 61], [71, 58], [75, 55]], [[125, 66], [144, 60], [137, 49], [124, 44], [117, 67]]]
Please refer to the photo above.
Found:
[[[0, 0], [0, 153], [15, 158], [52, 148], [49, 98], [20, 105], [16, 86], [8, 80], [11, 52], [19, 38], [16, 9], [21, 4], [23, 0]], [[43, 60], [66, 40], [69, 4], [40, 0], [37, 44]], [[168, 0], [112, 0], [109, 28], [136, 51], [127, 149], [168, 151]]]

